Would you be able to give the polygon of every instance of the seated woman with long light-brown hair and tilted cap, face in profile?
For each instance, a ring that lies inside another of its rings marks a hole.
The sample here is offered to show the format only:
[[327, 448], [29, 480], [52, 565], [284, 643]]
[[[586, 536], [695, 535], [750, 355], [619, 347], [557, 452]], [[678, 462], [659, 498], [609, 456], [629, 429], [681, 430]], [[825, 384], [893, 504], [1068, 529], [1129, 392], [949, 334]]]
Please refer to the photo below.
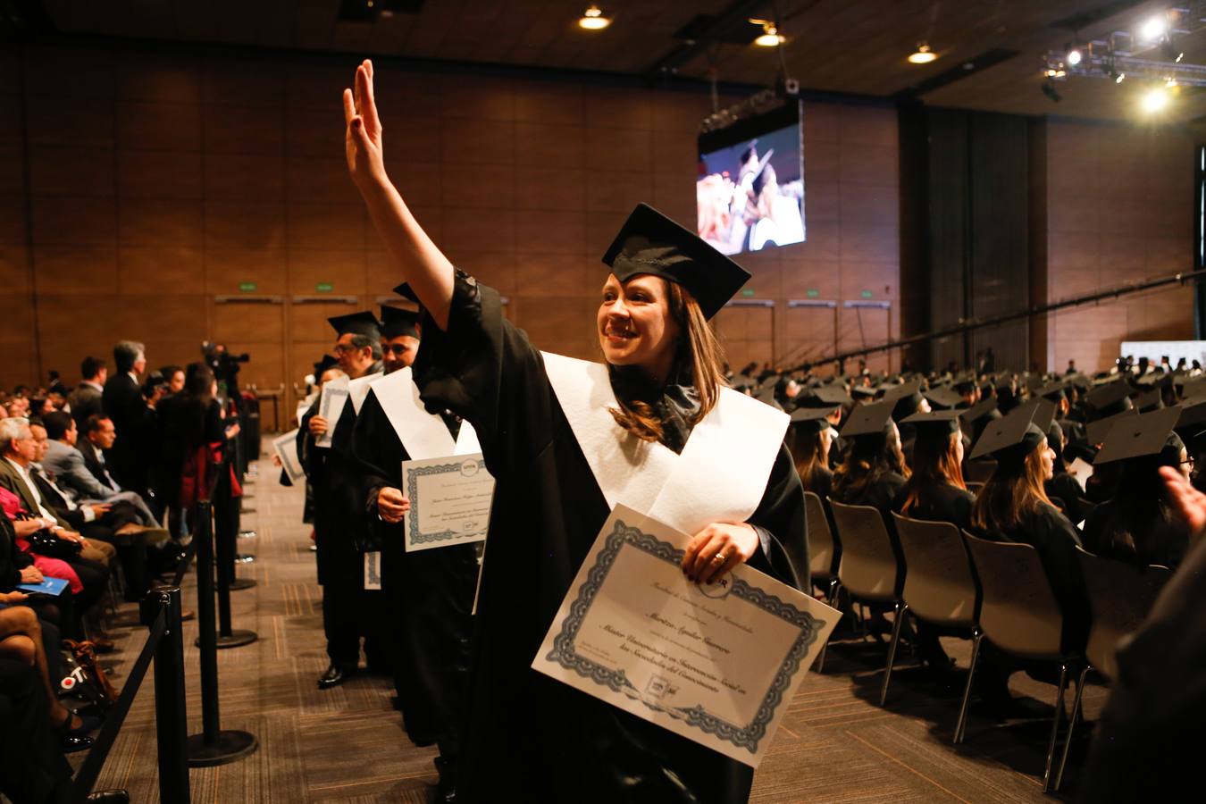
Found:
[[1088, 593], [1076, 557], [1081, 534], [1043, 488], [1053, 475], [1047, 429], [1054, 412], [1050, 403], [1036, 400], [985, 428], [971, 458], [995, 458], [996, 468], [976, 498], [972, 526], [985, 539], [1028, 544], [1038, 551], [1064, 612], [1064, 650], [1078, 652], [1089, 626]]

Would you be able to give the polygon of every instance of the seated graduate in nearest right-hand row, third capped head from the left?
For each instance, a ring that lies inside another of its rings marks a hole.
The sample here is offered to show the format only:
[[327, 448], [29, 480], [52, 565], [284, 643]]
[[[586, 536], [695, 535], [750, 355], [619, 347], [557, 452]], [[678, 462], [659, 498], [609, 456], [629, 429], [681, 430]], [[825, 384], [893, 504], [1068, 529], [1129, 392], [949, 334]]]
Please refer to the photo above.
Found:
[[976, 495], [964, 483], [964, 439], [959, 411], [915, 413], [912, 474], [892, 500], [892, 510], [913, 520], [971, 527]]

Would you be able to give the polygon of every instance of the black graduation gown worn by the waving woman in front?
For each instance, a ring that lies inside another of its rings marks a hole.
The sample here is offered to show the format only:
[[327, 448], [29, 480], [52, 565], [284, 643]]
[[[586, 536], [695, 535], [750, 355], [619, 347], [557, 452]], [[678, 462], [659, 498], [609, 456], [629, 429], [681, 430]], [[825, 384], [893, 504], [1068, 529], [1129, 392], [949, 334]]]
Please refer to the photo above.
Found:
[[[415, 363], [425, 403], [473, 423], [494, 476], [458, 797], [466, 802], [744, 802], [753, 769], [531, 668], [609, 507], [527, 336], [457, 274], [447, 331]], [[750, 522], [804, 539], [785, 447]], [[806, 542], [807, 544], [807, 542]], [[807, 554], [807, 553], [806, 553]], [[756, 553], [750, 565], [772, 571]], [[777, 563], [790, 577], [786, 559]]]

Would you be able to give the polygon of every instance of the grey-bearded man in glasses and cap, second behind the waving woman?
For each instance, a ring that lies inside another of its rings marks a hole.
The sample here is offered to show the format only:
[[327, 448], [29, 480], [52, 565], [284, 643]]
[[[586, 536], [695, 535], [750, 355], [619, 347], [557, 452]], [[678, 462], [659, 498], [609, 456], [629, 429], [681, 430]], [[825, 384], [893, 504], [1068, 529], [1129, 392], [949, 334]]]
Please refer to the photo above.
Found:
[[[339, 369], [350, 380], [381, 372], [381, 324], [368, 311], [328, 318], [335, 330], [334, 352]], [[329, 447], [317, 440], [329, 428], [318, 415], [321, 395], [302, 417], [298, 429], [298, 458], [314, 487], [314, 533], [318, 548], [318, 583], [322, 586], [322, 627], [327, 636], [327, 670], [318, 679], [322, 689], [343, 683], [359, 665], [361, 636], [374, 664], [381, 647], [368, 633], [362, 551], [365, 542], [359, 477], [350, 446], [356, 411], [349, 399], [332, 434]]]

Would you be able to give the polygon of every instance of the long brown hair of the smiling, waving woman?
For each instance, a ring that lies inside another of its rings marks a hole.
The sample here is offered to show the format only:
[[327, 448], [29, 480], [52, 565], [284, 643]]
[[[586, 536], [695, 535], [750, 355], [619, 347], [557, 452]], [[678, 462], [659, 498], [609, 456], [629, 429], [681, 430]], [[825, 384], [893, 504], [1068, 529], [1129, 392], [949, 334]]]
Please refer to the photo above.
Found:
[[[699, 410], [691, 418], [691, 424], [697, 424], [716, 406], [720, 389], [727, 385], [725, 351], [691, 292], [678, 282], [666, 282], [666, 287], [671, 318], [679, 325], [672, 371], [679, 377], [690, 374], [691, 385], [699, 398]], [[625, 393], [625, 383], [616, 382], [615, 366], [610, 366], [610, 372], [616, 401], [611, 416], [616, 424], [642, 441], [661, 441], [665, 432], [662, 417], [649, 403]]]

